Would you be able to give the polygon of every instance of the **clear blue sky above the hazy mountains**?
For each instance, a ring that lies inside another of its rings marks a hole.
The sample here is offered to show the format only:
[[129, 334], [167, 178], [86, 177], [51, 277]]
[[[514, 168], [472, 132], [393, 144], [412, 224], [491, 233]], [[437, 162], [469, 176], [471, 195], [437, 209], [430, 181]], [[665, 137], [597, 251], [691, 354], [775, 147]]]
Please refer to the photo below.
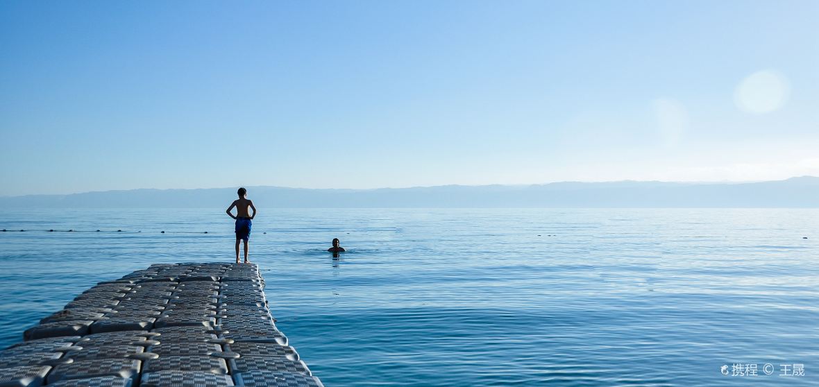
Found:
[[819, 176], [816, 1], [0, 2], [0, 196]]

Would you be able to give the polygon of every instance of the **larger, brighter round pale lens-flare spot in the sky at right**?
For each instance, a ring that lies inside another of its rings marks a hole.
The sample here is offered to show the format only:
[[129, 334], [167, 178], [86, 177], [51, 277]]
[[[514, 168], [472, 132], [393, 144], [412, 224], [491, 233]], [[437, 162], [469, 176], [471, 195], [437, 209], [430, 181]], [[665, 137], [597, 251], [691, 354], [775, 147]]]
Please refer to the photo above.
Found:
[[734, 103], [748, 113], [768, 113], [781, 108], [790, 86], [785, 75], [773, 70], [750, 74], [736, 87]]

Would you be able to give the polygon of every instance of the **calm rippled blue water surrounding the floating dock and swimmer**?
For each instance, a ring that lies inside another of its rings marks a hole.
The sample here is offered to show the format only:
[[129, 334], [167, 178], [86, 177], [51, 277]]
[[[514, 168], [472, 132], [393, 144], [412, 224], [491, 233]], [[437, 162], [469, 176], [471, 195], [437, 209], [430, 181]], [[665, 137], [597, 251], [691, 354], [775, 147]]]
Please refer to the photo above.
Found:
[[[0, 211], [0, 344], [97, 281], [230, 262], [223, 211]], [[261, 209], [251, 260], [328, 386], [819, 385], [817, 242], [817, 209]]]

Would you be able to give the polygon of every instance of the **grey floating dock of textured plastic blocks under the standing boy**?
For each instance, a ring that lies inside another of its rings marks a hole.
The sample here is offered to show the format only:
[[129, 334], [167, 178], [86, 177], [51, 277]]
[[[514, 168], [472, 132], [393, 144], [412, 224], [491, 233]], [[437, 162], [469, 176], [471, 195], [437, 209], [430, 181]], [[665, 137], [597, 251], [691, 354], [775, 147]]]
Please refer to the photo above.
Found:
[[100, 282], [0, 350], [0, 387], [322, 386], [255, 264], [154, 264]]

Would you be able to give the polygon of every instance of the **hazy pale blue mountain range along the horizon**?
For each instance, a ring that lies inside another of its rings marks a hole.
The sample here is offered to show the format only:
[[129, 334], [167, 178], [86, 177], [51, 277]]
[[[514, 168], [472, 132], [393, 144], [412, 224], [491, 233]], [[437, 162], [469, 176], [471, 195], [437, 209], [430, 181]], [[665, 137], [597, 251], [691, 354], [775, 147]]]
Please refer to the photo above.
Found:
[[[775, 182], [553, 182], [378, 189], [247, 187], [265, 207], [819, 207], [819, 178]], [[0, 208], [227, 207], [236, 187], [0, 197]]]

